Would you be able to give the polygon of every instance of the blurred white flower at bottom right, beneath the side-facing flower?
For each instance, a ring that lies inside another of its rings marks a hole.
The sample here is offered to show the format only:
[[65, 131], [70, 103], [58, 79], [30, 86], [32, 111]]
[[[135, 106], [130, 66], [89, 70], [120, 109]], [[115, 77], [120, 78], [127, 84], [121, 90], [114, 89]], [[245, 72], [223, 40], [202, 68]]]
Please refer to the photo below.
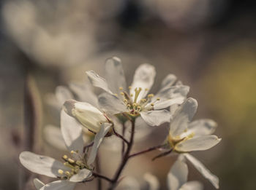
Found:
[[187, 182], [189, 173], [183, 155], [180, 155], [171, 167], [167, 175], [167, 186], [169, 190], [203, 190], [203, 185], [198, 181]]

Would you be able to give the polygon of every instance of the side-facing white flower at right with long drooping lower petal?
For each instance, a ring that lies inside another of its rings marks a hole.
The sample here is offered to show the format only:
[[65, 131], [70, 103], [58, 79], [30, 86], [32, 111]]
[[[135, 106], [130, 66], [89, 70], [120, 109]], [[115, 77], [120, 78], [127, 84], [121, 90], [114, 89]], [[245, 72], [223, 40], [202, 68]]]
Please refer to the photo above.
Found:
[[[188, 98], [176, 110], [172, 122], [170, 122], [170, 131], [167, 137], [167, 147], [178, 153], [187, 153], [190, 151], [204, 151], [217, 145], [220, 138], [211, 135], [217, 127], [217, 124], [211, 119], [200, 119], [192, 122], [192, 118], [197, 111], [197, 101]], [[195, 157], [190, 154], [183, 154], [199, 170], [205, 178], [219, 188], [219, 179], [203, 166]]]

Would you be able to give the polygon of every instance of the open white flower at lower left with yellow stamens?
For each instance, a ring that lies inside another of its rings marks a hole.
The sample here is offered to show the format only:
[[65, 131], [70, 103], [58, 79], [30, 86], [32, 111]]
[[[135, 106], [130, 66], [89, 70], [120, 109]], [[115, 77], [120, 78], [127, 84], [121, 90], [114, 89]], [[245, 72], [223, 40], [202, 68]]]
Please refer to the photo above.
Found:
[[[71, 157], [64, 155], [62, 159], [65, 162], [61, 163], [50, 157], [23, 151], [20, 154], [20, 163], [33, 173], [60, 178], [59, 181], [53, 181], [40, 187], [40, 190], [74, 189], [76, 183], [86, 181], [91, 177], [91, 164], [96, 158], [99, 145], [110, 129], [110, 125], [109, 123], [102, 124], [101, 129], [95, 135], [94, 146], [91, 148], [89, 158], [87, 158], [83, 154], [82, 127], [74, 118], [61, 111], [61, 132]], [[40, 186], [39, 183], [37, 185]]]

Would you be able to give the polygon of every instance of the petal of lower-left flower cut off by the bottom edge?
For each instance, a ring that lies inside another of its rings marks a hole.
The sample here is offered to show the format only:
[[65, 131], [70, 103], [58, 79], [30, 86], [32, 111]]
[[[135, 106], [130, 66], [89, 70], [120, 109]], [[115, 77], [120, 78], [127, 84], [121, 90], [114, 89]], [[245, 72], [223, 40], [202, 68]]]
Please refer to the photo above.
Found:
[[63, 181], [53, 181], [46, 184], [40, 190], [72, 190], [75, 188], [75, 183], [63, 180]]

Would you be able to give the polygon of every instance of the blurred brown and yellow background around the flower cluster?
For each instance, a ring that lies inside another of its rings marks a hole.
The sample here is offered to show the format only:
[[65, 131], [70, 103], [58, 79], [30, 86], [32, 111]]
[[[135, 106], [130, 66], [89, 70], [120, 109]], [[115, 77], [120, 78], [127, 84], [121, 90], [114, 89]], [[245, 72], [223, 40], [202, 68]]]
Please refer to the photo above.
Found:
[[[28, 175], [18, 162], [20, 151], [56, 158], [62, 155], [42, 133], [46, 124], [59, 125], [58, 114], [50, 108], [49, 95], [58, 85], [86, 82], [87, 70], [104, 76], [104, 62], [114, 55], [121, 58], [128, 83], [132, 82], [135, 68], [146, 62], [157, 69], [152, 92], [169, 73], [189, 85], [189, 96], [199, 103], [196, 119], [214, 119], [219, 124], [216, 133], [222, 138], [218, 146], [196, 152], [195, 157], [219, 176], [220, 189], [256, 189], [255, 3], [0, 2], [1, 190], [20, 189], [26, 183]], [[160, 137], [155, 134], [160, 133], [149, 135], [146, 142], [156, 141]], [[102, 172], [113, 173], [115, 154], [104, 149], [100, 154], [106, 155]], [[173, 159], [151, 162], [155, 154], [133, 159], [126, 173], [141, 182], [140, 176], [149, 171], [157, 175], [161, 189], [166, 189], [166, 175]], [[143, 167], [138, 168], [141, 163]], [[48, 178], [42, 180], [47, 182]], [[205, 189], [214, 189], [191, 165], [189, 180], [202, 181]], [[94, 185], [90, 183], [87, 188], [95, 189]]]

